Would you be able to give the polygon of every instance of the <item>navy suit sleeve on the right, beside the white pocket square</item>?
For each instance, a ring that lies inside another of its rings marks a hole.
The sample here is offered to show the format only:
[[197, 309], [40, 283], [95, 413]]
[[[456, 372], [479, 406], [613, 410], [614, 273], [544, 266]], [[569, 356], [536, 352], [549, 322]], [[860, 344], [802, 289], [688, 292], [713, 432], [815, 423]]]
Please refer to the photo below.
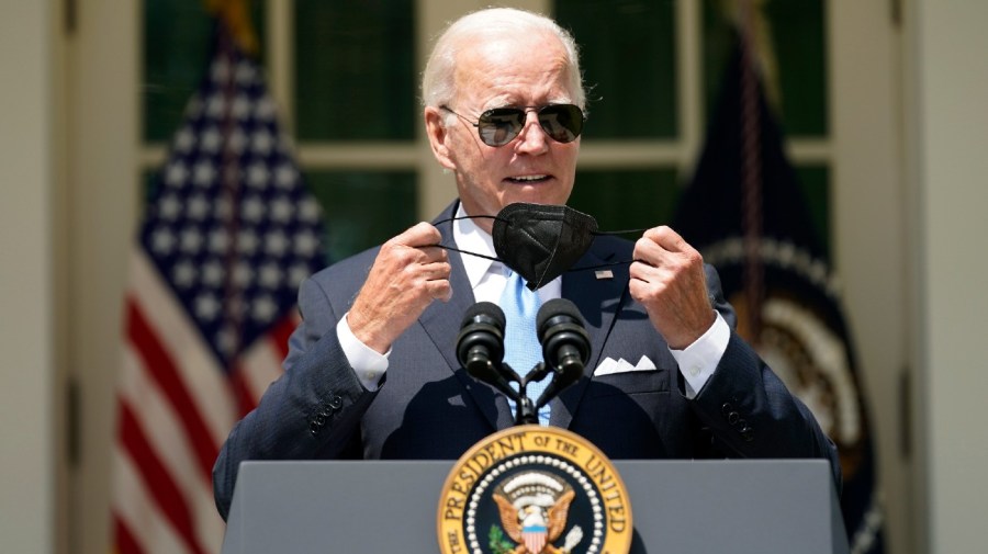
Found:
[[[712, 268], [708, 268], [707, 283], [715, 308], [731, 327], [720, 363], [691, 402], [694, 412], [712, 432], [715, 450], [737, 457], [829, 460], [840, 490], [837, 446], [809, 408], [738, 335], [733, 308], [723, 298], [720, 279]], [[678, 382], [683, 392], [682, 375]]]

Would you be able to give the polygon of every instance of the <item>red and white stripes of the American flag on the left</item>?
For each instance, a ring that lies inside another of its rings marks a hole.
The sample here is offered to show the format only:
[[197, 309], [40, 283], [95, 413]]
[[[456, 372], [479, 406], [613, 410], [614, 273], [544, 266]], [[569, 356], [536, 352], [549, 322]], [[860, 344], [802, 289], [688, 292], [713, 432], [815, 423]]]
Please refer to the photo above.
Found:
[[[212, 496], [212, 467], [225, 434], [217, 437], [214, 429], [229, 429], [278, 378], [281, 360], [288, 353], [288, 337], [300, 318], [292, 312], [256, 341], [228, 380], [211, 378], [210, 372], [195, 375], [189, 360], [209, 358], [205, 346], [186, 332], [188, 325], [176, 324], [183, 316], [175, 304], [159, 302], [169, 291], [139, 250], [132, 257], [131, 268], [133, 279], [125, 302], [128, 341], [119, 383], [121, 428], [114, 473], [125, 476], [115, 488], [132, 493], [141, 489], [139, 497], [145, 500], [131, 498], [128, 504], [136, 506], [128, 510], [114, 499], [120, 508], [114, 512], [117, 552], [218, 552], [225, 525]], [[183, 373], [193, 373], [195, 386], [202, 388], [187, 386], [184, 382], [193, 378], [182, 380]], [[218, 368], [212, 369], [212, 374], [220, 373]], [[210, 389], [213, 392], [209, 395], [202, 394]], [[225, 412], [218, 425], [209, 422], [220, 410], [210, 407], [206, 396], [215, 399], [212, 406], [218, 404]], [[137, 509], [145, 505], [157, 509], [144, 521], [124, 517], [146, 511]], [[135, 525], [139, 532], [132, 531]], [[154, 550], [142, 549], [135, 536], [155, 544]]]

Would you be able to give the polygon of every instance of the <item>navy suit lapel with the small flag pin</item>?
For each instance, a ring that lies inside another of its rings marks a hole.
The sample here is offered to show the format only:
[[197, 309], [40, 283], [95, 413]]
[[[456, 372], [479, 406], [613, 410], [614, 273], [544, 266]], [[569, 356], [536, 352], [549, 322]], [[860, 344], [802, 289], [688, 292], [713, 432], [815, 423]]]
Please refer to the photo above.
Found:
[[[615, 260], [615, 252], [603, 246], [602, 241], [595, 241], [591, 250], [576, 262], [574, 268], [592, 268], [611, 263]], [[597, 272], [609, 272], [598, 278]], [[591, 352], [590, 362], [586, 364], [585, 375], [570, 386], [559, 398], [552, 400], [552, 415], [550, 423], [557, 427], [568, 428], [573, 420], [573, 414], [576, 412], [580, 402], [583, 398], [590, 380], [593, 376], [594, 368], [600, 361], [604, 350], [604, 343], [614, 318], [620, 312], [620, 303], [626, 301], [624, 292], [628, 287], [628, 264], [608, 265], [599, 270], [581, 270], [569, 271], [563, 274], [562, 297], [572, 301], [580, 313], [584, 317], [586, 330], [590, 335]]]

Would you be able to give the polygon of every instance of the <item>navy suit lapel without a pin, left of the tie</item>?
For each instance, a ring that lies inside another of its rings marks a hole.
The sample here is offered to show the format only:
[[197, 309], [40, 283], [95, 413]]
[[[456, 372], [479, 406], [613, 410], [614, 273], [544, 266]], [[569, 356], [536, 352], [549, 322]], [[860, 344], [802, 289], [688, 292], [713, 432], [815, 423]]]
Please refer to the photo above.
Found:
[[[452, 217], [456, 214], [457, 205], [458, 203], [453, 202], [433, 223]], [[438, 225], [438, 229], [442, 235], [442, 244], [454, 247], [452, 222]], [[474, 381], [465, 371], [458, 371], [460, 370], [460, 362], [457, 360], [457, 336], [460, 332], [463, 314], [476, 301], [473, 296], [473, 289], [470, 286], [470, 280], [467, 279], [467, 270], [463, 268], [461, 255], [449, 251], [449, 281], [453, 291], [452, 298], [449, 302], [434, 302], [430, 304], [419, 318], [419, 323], [433, 340], [433, 343], [442, 353], [442, 358], [449, 364], [450, 371], [454, 373], [463, 388], [473, 397], [474, 403], [491, 426], [495, 429], [508, 427], [512, 423], [512, 416], [504, 395], [495, 392], [494, 387], [490, 385]], [[494, 397], [493, 403], [491, 402], [492, 395]]]

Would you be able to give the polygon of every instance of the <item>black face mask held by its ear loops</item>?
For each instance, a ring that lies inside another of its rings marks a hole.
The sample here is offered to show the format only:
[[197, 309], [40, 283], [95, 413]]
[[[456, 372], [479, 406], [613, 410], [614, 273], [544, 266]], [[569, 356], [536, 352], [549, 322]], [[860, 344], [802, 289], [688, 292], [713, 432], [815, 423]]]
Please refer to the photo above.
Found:
[[[570, 206], [509, 204], [493, 216], [493, 219], [492, 235], [494, 251], [497, 253], [497, 258], [493, 259], [521, 275], [526, 286], [532, 291], [573, 269], [573, 264], [590, 249], [594, 236], [604, 235], [597, 231], [597, 221], [593, 216]], [[633, 233], [633, 230], [616, 233]], [[456, 250], [444, 245], [438, 246]], [[457, 251], [490, 258], [474, 252]], [[588, 270], [597, 267], [575, 269]]]

